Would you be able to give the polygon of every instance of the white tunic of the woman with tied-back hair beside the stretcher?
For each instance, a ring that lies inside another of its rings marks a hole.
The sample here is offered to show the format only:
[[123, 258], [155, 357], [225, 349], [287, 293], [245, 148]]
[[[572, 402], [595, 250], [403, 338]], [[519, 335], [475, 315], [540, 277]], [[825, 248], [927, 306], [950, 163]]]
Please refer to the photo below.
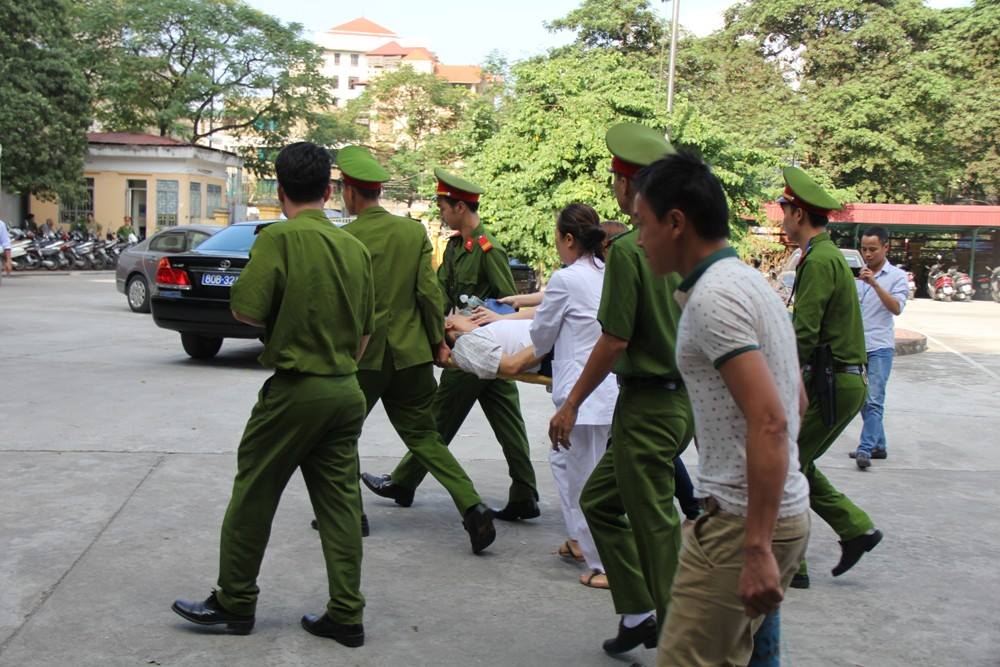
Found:
[[[552, 402], [559, 408], [580, 379], [601, 337], [597, 307], [604, 287], [604, 263], [590, 256], [552, 274], [531, 320], [531, 343], [541, 356], [553, 350]], [[618, 384], [609, 374], [577, 411], [577, 424], [610, 424]]]

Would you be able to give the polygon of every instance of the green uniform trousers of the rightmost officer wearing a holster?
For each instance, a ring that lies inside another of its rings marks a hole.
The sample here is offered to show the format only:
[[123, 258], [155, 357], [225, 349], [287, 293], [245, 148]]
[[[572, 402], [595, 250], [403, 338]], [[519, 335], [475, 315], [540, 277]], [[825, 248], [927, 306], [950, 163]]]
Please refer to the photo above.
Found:
[[[809, 388], [809, 377], [805, 380]], [[809, 506], [830, 524], [841, 540], [864, 535], [875, 527], [864, 510], [834, 488], [816, 467], [821, 457], [837, 439], [865, 403], [867, 388], [860, 375], [837, 373], [837, 419], [833, 426], [823, 424], [819, 401], [809, 388], [809, 407], [799, 429], [799, 464], [809, 480]]]

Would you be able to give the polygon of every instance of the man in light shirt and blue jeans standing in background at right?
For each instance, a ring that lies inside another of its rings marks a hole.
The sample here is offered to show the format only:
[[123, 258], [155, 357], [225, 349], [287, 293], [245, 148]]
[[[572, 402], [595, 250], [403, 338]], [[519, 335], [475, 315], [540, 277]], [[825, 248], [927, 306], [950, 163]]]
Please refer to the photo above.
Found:
[[885, 385], [889, 382], [896, 351], [893, 318], [903, 312], [910, 293], [906, 272], [889, 263], [885, 257], [888, 250], [889, 232], [885, 227], [869, 227], [861, 235], [861, 254], [867, 266], [861, 269], [855, 282], [868, 351], [868, 398], [861, 408], [864, 420], [861, 442], [857, 450], [851, 452], [860, 470], [871, 466], [872, 459], [884, 459], [887, 455], [882, 414]]

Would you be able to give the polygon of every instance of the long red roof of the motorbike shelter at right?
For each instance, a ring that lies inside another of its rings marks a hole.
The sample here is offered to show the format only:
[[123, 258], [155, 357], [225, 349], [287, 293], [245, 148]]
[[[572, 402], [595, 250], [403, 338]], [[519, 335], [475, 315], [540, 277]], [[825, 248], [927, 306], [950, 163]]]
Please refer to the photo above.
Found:
[[[780, 223], [781, 206], [764, 205], [767, 219]], [[922, 227], [1000, 227], [1000, 206], [945, 204], [845, 204], [830, 214], [832, 223], [919, 225]]]

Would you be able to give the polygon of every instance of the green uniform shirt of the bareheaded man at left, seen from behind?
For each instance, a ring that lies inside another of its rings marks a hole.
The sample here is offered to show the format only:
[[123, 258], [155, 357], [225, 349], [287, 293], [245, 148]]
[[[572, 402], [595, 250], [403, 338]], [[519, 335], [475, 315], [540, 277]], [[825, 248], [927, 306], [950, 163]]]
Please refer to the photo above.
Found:
[[374, 324], [372, 284], [364, 245], [310, 209], [261, 230], [230, 307], [267, 327], [265, 368], [350, 375]]

